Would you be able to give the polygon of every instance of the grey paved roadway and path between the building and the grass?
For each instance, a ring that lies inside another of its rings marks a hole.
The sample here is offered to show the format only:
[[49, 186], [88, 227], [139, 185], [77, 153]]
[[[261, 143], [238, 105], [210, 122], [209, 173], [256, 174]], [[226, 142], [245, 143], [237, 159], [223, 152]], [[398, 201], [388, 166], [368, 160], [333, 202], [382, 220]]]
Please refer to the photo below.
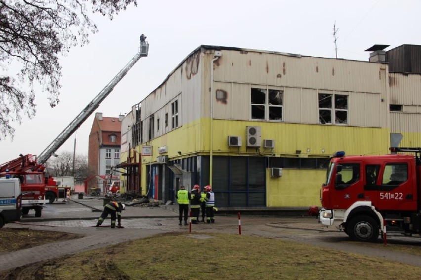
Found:
[[[124, 229], [93, 227], [102, 209], [102, 200], [98, 198], [75, 199], [68, 203], [48, 204], [40, 218], [35, 217], [35, 213], [30, 211], [19, 223], [7, 224], [5, 227], [65, 231], [82, 234], [84, 237], [0, 253], [0, 271], [159, 233], [189, 232], [189, 226], [178, 226], [177, 210], [174, 206], [127, 207], [122, 220]], [[109, 224], [110, 219], [107, 218], [103, 225]], [[192, 225], [192, 231], [195, 233], [239, 234], [238, 217], [237, 215], [216, 215], [214, 224]], [[111, 232], [113, 234], [110, 234]], [[371, 248], [365, 246], [364, 243], [350, 242], [344, 233], [335, 229], [327, 229], [318, 224], [314, 218], [243, 215], [241, 233], [319, 245], [421, 266], [421, 256]], [[420, 245], [421, 248], [420, 238], [394, 237], [392, 240], [394, 243]]]

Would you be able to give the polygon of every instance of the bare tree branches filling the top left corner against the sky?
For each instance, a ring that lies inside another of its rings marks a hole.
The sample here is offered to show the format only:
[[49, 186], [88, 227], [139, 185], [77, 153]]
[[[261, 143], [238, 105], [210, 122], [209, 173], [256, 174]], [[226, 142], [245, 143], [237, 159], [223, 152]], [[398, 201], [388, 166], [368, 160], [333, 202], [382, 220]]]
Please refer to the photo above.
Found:
[[58, 58], [98, 31], [90, 12], [112, 20], [131, 3], [137, 5], [136, 0], [0, 0], [0, 140], [13, 139], [12, 123], [21, 123], [21, 114], [35, 116], [36, 89], [48, 95], [51, 107], [58, 104]]

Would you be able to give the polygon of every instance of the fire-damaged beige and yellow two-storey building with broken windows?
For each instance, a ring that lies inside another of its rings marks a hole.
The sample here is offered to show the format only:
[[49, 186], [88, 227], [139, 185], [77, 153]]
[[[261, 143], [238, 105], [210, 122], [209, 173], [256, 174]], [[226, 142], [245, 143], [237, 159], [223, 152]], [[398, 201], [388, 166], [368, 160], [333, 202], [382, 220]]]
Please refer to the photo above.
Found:
[[201, 45], [122, 121], [123, 191], [219, 207], [320, 205], [329, 157], [421, 146], [421, 46], [369, 61]]

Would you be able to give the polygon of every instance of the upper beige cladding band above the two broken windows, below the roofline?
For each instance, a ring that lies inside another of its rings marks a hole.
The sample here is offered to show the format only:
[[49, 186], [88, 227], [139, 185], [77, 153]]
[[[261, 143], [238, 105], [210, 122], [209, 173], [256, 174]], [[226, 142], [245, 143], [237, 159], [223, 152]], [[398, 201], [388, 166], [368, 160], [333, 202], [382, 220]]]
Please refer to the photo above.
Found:
[[214, 79], [217, 81], [332, 89], [354, 92], [381, 92], [387, 68], [381, 63], [295, 57], [253, 51], [222, 50]]

